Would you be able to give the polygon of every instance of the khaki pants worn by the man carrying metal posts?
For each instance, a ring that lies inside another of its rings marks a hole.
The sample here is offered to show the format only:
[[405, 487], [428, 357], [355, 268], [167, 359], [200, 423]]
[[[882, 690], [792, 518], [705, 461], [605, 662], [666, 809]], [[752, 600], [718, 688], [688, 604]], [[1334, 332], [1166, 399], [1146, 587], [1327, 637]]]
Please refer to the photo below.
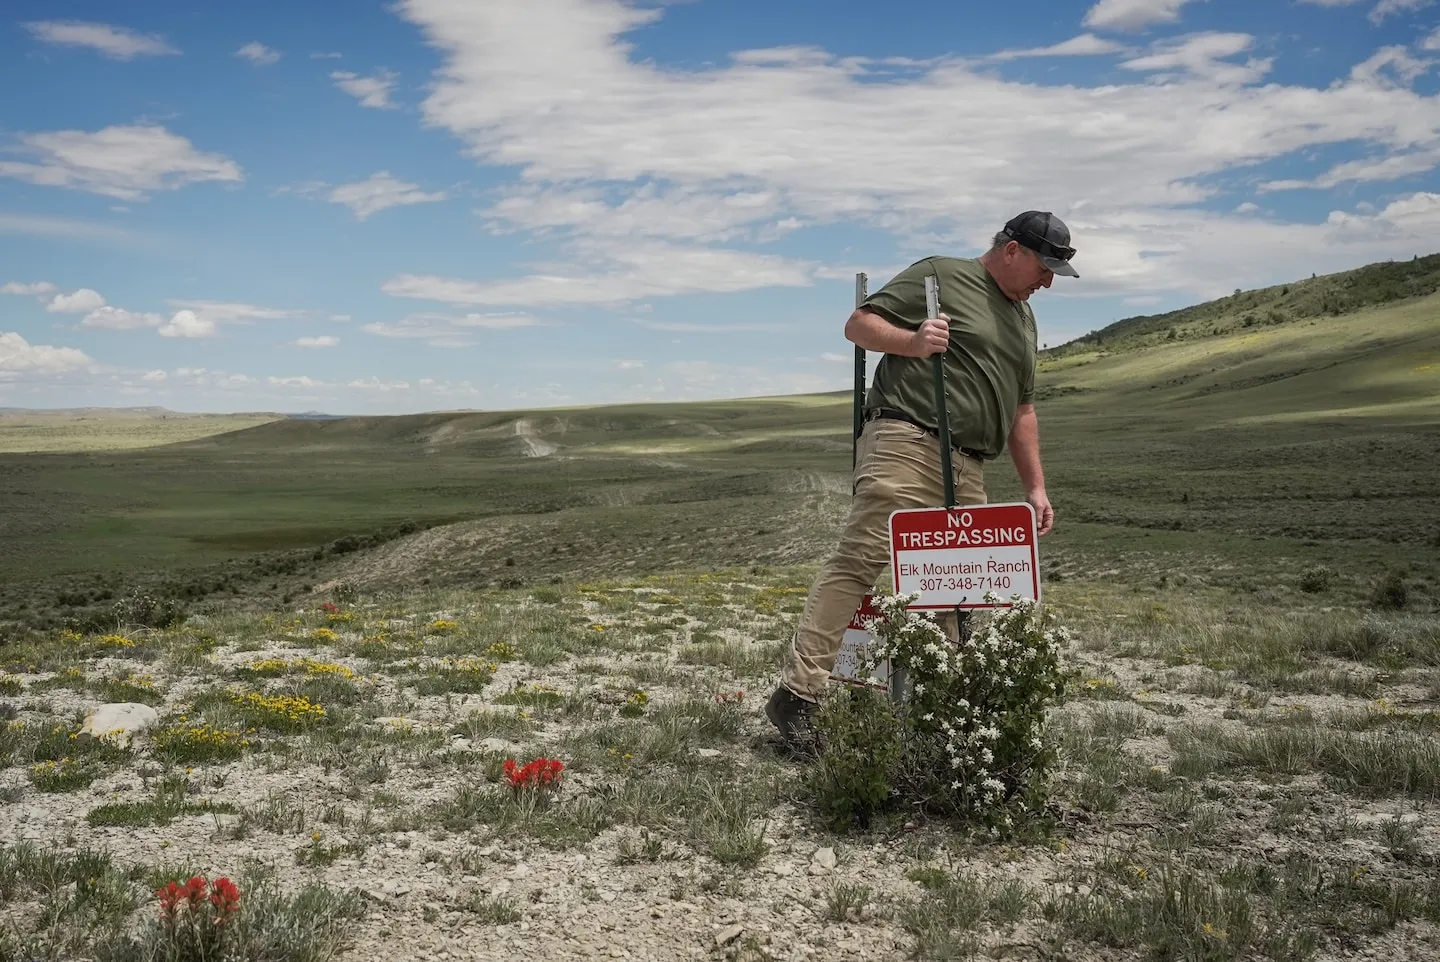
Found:
[[[985, 465], [958, 451], [950, 455], [955, 503], [985, 503]], [[811, 586], [799, 629], [780, 671], [780, 684], [809, 701], [825, 694], [845, 626], [890, 566], [890, 513], [945, 507], [940, 445], [903, 421], [871, 421], [855, 445], [855, 487], [840, 544]], [[955, 612], [937, 618], [958, 637]]]

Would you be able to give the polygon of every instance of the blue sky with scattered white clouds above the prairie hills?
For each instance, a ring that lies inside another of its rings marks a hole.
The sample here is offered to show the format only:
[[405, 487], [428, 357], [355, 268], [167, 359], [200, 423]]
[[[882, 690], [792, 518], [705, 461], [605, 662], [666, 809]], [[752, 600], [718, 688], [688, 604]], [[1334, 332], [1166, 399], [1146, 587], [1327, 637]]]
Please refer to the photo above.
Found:
[[1440, 249], [1434, 0], [7, 3], [0, 406], [845, 389], [1054, 210], [1057, 344]]

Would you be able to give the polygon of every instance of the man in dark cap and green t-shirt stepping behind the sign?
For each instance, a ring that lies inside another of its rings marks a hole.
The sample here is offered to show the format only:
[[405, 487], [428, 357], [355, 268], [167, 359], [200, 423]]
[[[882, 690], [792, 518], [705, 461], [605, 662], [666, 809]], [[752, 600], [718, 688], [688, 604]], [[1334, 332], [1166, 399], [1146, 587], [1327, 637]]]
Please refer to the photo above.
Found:
[[[946, 416], [955, 498], [985, 503], [985, 461], [1009, 449], [1047, 534], [1035, 422], [1035, 315], [1030, 295], [1070, 265], [1070, 229], [1048, 212], [1027, 210], [995, 235], [979, 258], [933, 256], [912, 264], [845, 321], [845, 337], [884, 354], [864, 405], [855, 445], [854, 497], [840, 544], [811, 586], [765, 714], [786, 745], [818, 750], [811, 716], [825, 693], [845, 626], [890, 562], [890, 513], [945, 503], [935, 402], [935, 354], [945, 354]], [[939, 282], [939, 317], [926, 317], [924, 278]], [[955, 613], [940, 618], [958, 637]]]

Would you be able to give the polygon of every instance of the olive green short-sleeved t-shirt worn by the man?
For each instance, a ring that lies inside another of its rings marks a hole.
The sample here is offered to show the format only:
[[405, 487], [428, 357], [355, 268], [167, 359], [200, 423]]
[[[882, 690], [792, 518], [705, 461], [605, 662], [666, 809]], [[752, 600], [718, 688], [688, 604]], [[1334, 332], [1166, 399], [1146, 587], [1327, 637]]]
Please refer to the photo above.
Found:
[[[924, 278], [939, 281], [940, 313], [950, 318], [945, 393], [950, 444], [996, 458], [1005, 449], [1015, 406], [1035, 396], [1035, 314], [1011, 301], [979, 261], [926, 258], [912, 264], [863, 304], [914, 330], [926, 318]], [[899, 409], [936, 428], [935, 360], [886, 354], [865, 409]]]

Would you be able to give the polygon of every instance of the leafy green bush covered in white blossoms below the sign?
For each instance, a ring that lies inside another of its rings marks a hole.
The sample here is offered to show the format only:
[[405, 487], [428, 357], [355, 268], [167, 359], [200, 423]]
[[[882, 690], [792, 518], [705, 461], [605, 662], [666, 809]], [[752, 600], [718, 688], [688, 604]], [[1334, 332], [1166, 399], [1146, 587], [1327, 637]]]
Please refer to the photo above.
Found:
[[[909, 609], [916, 598], [876, 599], [880, 615], [867, 625], [876, 642], [863, 655], [865, 670], [888, 658], [909, 691], [891, 703], [900, 745], [886, 772], [890, 802], [1012, 828], [1047, 801], [1056, 746], [1044, 722], [1064, 698], [1061, 649], [1070, 632], [1017, 596], [1008, 608], [972, 615], [973, 629], [956, 644], [933, 615]], [[822, 739], [827, 724], [822, 719]]]

